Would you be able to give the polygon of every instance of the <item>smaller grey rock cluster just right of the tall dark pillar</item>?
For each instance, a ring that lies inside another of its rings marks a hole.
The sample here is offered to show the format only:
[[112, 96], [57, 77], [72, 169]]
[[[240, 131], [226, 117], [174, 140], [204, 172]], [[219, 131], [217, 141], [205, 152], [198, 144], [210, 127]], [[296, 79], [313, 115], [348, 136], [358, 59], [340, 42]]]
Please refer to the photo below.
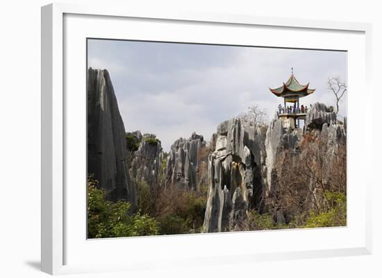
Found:
[[131, 132], [139, 142], [139, 148], [132, 156], [131, 177], [136, 181], [146, 182], [148, 185], [158, 185], [161, 175], [161, 162], [163, 157], [160, 140], [155, 134], [142, 134], [140, 131]]

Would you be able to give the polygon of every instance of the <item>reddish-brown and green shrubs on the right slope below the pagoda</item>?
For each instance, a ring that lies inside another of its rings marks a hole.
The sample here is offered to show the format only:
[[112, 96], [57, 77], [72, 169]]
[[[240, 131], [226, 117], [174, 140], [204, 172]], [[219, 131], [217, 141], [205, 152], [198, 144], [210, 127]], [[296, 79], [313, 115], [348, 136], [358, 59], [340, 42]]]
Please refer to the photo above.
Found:
[[306, 133], [276, 162], [268, 210], [281, 209], [290, 227], [346, 225], [346, 162], [346, 139], [333, 145], [319, 130]]

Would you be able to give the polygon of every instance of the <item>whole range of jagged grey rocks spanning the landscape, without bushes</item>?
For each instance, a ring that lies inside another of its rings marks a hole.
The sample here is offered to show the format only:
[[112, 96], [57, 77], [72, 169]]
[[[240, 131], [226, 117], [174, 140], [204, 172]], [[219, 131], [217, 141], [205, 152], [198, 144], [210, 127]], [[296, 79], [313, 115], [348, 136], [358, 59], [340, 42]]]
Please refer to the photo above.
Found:
[[[196, 133], [177, 139], [163, 164], [156, 135], [125, 133], [108, 71], [88, 70], [87, 97], [88, 175], [94, 174], [109, 200], [126, 200], [133, 209], [137, 208], [133, 179], [178, 189], [207, 188], [203, 232], [247, 229], [249, 210], [266, 212], [278, 224], [290, 223], [294, 215], [310, 211], [313, 205], [324, 211], [326, 184], [342, 184], [338, 192], [346, 193], [347, 121], [339, 121], [333, 107], [315, 103], [303, 129], [283, 128], [277, 116], [269, 125], [240, 118], [224, 121], [210, 144]], [[335, 165], [344, 170], [335, 172]], [[308, 174], [300, 175], [300, 167]], [[294, 184], [292, 198], [304, 200], [285, 205], [290, 200], [283, 194]]]

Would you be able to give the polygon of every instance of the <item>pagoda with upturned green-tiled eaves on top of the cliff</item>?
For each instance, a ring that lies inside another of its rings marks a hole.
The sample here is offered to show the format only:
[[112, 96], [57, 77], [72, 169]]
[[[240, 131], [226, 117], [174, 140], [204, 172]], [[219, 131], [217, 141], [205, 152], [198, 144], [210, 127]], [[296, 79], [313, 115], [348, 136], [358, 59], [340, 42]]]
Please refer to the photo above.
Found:
[[284, 98], [284, 106], [279, 105], [279, 111], [277, 113], [279, 119], [283, 119], [284, 128], [299, 128], [299, 120], [303, 119], [305, 121], [308, 107], [304, 107], [304, 105], [300, 107], [300, 98], [315, 92], [315, 89], [309, 89], [308, 87], [309, 83], [307, 85], [301, 85], [299, 81], [297, 81], [292, 68], [292, 75], [287, 82], [276, 89], [269, 88], [272, 94]]

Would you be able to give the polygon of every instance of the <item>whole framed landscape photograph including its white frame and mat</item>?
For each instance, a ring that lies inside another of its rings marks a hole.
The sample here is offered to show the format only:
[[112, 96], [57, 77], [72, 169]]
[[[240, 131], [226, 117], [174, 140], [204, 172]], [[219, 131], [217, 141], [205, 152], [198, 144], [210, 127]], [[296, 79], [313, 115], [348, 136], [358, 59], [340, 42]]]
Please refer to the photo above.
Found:
[[42, 7], [42, 270], [371, 254], [370, 35]]

